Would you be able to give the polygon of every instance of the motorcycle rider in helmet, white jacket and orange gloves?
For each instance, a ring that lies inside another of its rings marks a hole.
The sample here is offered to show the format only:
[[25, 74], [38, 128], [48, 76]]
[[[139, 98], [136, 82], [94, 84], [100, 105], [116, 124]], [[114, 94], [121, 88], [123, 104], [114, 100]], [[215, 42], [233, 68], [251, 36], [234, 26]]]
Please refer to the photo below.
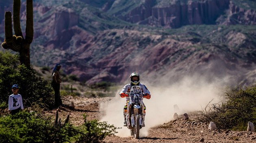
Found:
[[[127, 126], [126, 115], [127, 115], [127, 107], [128, 107], [129, 100], [130, 100], [130, 97], [129, 97], [130, 89], [131, 89], [131, 86], [135, 86], [135, 85], [141, 86], [143, 98], [146, 98], [146, 99], [151, 98], [150, 91], [148, 90], [148, 88], [144, 84], [141, 84], [139, 82], [139, 74], [137, 72], [133, 72], [130, 75], [130, 84], [126, 84], [119, 94], [120, 97], [122, 97], [122, 98], [126, 97], [126, 104], [124, 105], [124, 126]], [[146, 110], [146, 106], [144, 104], [144, 113], [143, 113], [144, 118], [145, 118], [145, 114], [146, 114], [145, 110]], [[143, 126], [145, 126], [145, 124], [143, 124]]]

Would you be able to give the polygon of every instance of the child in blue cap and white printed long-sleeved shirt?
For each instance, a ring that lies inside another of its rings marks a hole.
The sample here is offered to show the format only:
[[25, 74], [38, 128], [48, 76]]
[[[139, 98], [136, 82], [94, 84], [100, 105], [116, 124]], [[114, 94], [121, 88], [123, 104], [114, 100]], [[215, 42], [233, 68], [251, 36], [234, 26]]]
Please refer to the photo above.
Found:
[[13, 86], [11, 87], [11, 90], [13, 94], [9, 96], [8, 110], [9, 110], [9, 114], [14, 115], [22, 111], [24, 107], [22, 102], [22, 96], [18, 94], [19, 86], [17, 84], [13, 84]]

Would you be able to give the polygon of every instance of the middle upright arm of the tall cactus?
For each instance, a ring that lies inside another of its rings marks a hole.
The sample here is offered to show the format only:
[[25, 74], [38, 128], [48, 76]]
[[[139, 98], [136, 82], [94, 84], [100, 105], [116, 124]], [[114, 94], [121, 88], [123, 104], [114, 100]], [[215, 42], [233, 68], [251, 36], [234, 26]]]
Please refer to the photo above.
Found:
[[13, 0], [13, 29], [16, 36], [22, 36], [20, 28], [20, 0]]

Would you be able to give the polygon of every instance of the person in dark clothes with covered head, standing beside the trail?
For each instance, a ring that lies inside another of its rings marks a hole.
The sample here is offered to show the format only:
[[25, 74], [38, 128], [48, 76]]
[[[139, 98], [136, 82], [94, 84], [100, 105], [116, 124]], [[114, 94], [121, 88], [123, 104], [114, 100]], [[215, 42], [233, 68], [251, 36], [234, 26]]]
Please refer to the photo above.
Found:
[[60, 83], [61, 77], [59, 70], [61, 69], [61, 64], [57, 63], [52, 71], [52, 88], [54, 89], [55, 105], [57, 107], [62, 105], [61, 94], [60, 94]]

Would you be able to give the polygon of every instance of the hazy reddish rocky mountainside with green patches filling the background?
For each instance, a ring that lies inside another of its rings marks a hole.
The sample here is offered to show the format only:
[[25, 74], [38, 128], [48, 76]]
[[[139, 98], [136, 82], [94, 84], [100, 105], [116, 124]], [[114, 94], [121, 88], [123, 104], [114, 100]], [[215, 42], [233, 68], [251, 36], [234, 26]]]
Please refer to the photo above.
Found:
[[[0, 40], [11, 2], [0, 2]], [[132, 71], [148, 82], [196, 73], [251, 84], [256, 80], [256, 8], [250, 0], [239, 2], [36, 0], [31, 62], [51, 68], [60, 62], [65, 74], [88, 84], [124, 82]], [[24, 15], [22, 0], [23, 30]]]

